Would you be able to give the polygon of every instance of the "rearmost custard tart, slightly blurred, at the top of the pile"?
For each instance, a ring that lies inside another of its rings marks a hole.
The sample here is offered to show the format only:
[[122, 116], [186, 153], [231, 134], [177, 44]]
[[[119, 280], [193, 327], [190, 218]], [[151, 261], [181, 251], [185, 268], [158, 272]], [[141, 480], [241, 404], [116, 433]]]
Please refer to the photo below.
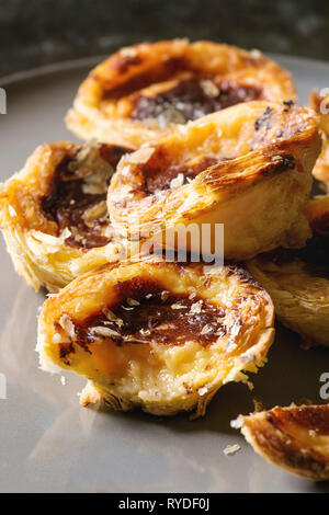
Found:
[[173, 39], [122, 48], [82, 82], [68, 127], [139, 148], [175, 125], [251, 100], [295, 100], [291, 75], [260, 52]]

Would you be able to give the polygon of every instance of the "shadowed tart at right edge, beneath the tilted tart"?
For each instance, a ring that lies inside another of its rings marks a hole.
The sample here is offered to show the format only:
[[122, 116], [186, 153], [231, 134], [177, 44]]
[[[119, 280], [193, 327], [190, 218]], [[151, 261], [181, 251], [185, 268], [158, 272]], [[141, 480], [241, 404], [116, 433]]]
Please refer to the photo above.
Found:
[[309, 201], [305, 213], [314, 231], [305, 248], [259, 255], [247, 267], [284, 325], [306, 346], [329, 346], [329, 196]]

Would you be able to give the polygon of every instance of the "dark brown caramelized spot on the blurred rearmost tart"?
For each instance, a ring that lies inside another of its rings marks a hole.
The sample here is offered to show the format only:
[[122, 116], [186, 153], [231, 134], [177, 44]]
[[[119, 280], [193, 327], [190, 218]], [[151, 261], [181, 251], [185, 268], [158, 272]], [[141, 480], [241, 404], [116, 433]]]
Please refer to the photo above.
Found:
[[155, 96], [139, 96], [132, 112], [134, 119], [157, 119], [160, 127], [184, 124], [240, 102], [259, 99], [261, 89], [234, 81], [216, 83], [194, 77]]

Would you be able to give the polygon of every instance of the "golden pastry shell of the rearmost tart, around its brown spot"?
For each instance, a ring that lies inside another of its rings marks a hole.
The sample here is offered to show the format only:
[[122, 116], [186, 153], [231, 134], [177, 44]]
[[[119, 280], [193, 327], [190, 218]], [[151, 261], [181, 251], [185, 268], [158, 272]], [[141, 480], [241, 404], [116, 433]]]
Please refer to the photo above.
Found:
[[[290, 73], [259, 52], [185, 39], [143, 43], [122, 48], [89, 73], [67, 114], [67, 125], [82, 139], [139, 148], [157, 140], [177, 123], [162, 127], [157, 118], [134, 119], [136, 101], [158, 98], [191, 77], [232, 84], [237, 90], [235, 102], [239, 95], [243, 100], [243, 88], [256, 89], [260, 100], [296, 96]], [[209, 95], [212, 101], [212, 90]], [[214, 106], [213, 111], [218, 108]]]

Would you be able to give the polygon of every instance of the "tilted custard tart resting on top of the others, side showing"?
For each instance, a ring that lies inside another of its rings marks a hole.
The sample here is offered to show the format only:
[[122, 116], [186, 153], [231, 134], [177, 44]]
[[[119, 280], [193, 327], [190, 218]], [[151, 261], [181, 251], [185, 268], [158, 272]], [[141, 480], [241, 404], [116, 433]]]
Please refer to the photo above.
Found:
[[[196, 226], [209, 251], [224, 224], [225, 258], [243, 260], [310, 236], [304, 207], [320, 150], [318, 118], [291, 102], [248, 102], [177, 127], [126, 156], [109, 188], [113, 227], [155, 240]], [[160, 242], [158, 241], [160, 240]], [[162, 240], [162, 241], [161, 241]], [[200, 241], [177, 247], [197, 252]], [[196, 248], [195, 248], [196, 245]]]

